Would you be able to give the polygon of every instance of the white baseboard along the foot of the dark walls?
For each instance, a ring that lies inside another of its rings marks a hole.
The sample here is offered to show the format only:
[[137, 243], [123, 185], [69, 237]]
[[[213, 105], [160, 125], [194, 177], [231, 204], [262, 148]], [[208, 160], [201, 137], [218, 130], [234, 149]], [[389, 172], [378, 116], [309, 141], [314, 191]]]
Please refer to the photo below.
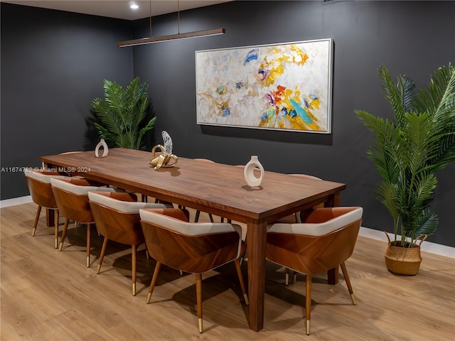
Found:
[[[31, 195], [26, 197], [14, 197], [12, 199], [6, 199], [0, 201], [0, 207], [9, 207], [14, 205], [21, 205], [27, 202], [32, 202]], [[359, 236], [368, 237], [373, 239], [379, 239], [387, 241], [383, 231], [377, 229], [368, 229], [368, 227], [360, 227]], [[393, 239], [393, 234], [389, 233], [390, 239]], [[435, 244], [432, 242], [424, 242], [422, 244], [422, 251], [431, 252], [432, 254], [440, 254], [441, 256], [447, 256], [455, 258], [455, 247], [447, 247], [446, 245]]]

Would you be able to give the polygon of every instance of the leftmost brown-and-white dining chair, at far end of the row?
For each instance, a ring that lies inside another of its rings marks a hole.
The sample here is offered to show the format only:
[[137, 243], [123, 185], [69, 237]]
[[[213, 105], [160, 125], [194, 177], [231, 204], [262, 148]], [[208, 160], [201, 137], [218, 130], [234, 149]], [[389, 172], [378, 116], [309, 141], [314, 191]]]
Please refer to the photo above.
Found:
[[51, 178], [65, 178], [53, 171], [44, 171], [43, 169], [35, 170], [28, 168], [24, 172], [26, 176], [26, 183], [28, 191], [30, 192], [31, 199], [38, 205], [36, 210], [35, 222], [33, 223], [33, 230], [31, 235], [34, 237], [36, 233], [36, 227], [41, 214], [41, 208], [47, 208], [53, 211], [54, 214], [54, 235], [55, 235], [55, 249], [58, 247], [58, 207], [55, 202], [54, 195], [50, 184]]

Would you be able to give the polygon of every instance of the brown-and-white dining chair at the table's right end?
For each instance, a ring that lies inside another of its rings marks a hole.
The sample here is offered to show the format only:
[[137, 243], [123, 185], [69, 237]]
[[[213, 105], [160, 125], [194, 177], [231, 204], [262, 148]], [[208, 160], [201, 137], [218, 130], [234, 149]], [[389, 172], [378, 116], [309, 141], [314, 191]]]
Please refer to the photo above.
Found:
[[275, 223], [267, 227], [267, 260], [306, 274], [306, 334], [310, 333], [311, 275], [341, 266], [355, 305], [346, 260], [353, 253], [362, 222], [362, 207], [318, 208], [305, 222]]

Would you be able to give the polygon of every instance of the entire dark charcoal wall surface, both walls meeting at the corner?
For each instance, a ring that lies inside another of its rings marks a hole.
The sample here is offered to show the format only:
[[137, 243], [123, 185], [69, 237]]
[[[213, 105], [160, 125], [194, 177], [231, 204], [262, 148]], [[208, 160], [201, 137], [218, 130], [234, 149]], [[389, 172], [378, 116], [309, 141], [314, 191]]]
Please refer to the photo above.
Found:
[[[153, 18], [153, 35], [177, 31], [176, 13]], [[168, 131], [183, 157], [307, 173], [347, 184], [342, 205], [364, 207], [363, 226], [392, 231], [373, 197], [379, 180], [365, 150], [372, 141], [354, 109], [390, 117], [380, 90], [381, 63], [418, 86], [455, 59], [454, 1], [232, 1], [181, 12], [181, 32], [225, 27], [224, 36], [135, 48], [115, 43], [149, 36], [149, 19], [129, 22], [1, 4], [1, 166], [38, 166], [38, 156], [80, 150], [90, 102], [102, 79], [149, 82], [154, 139]], [[131, 34], [133, 32], [133, 34]], [[333, 134], [196, 124], [195, 51], [333, 38]], [[455, 246], [455, 164], [440, 171], [429, 238]], [[27, 195], [23, 175], [1, 173], [1, 199]]]

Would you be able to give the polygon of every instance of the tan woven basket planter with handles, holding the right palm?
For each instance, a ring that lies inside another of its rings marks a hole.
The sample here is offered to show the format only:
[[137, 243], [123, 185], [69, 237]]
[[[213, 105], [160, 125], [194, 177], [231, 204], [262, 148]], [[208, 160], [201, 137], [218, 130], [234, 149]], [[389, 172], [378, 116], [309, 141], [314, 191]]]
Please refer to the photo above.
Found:
[[[387, 233], [386, 233], [387, 235]], [[422, 262], [422, 257], [420, 256], [420, 245], [426, 239], [422, 239], [419, 245], [414, 244], [414, 247], [408, 247], [409, 243], [405, 247], [401, 246], [401, 242], [390, 242], [387, 245], [385, 250], [385, 266], [389, 271], [394, 274], [400, 275], [417, 275], [419, 272], [420, 263]], [[393, 245], [396, 244], [396, 245]]]

